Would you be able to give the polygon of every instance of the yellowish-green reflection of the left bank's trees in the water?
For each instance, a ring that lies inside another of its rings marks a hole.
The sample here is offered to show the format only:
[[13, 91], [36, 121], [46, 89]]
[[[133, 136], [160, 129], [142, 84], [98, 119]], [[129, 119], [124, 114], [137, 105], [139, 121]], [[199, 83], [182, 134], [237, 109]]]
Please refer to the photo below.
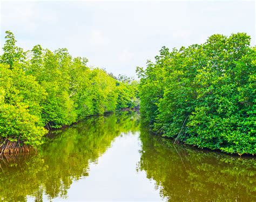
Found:
[[[90, 162], [97, 162], [120, 133], [138, 130], [136, 112], [91, 117], [63, 131], [52, 132], [37, 155], [5, 161], [0, 170], [0, 198], [26, 200], [43, 193], [49, 198], [65, 198], [73, 180], [90, 175]], [[24, 159], [23, 159], [24, 158]], [[18, 160], [18, 161], [17, 161]]]

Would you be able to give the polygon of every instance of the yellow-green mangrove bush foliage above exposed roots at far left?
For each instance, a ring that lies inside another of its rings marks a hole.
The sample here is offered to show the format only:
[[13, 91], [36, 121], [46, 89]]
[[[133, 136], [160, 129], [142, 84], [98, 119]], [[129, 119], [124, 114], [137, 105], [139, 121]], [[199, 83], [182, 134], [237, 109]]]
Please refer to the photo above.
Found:
[[37, 146], [46, 134], [40, 120], [44, 89], [20, 67], [0, 64], [0, 140]]

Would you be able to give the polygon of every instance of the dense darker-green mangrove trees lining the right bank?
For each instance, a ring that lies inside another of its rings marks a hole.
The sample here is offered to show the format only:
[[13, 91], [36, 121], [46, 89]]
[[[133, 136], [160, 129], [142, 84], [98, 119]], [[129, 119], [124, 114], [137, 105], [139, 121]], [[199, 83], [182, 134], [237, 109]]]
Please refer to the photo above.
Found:
[[256, 48], [245, 33], [163, 47], [145, 71], [137, 68], [142, 118], [175, 141], [255, 154], [255, 66]]

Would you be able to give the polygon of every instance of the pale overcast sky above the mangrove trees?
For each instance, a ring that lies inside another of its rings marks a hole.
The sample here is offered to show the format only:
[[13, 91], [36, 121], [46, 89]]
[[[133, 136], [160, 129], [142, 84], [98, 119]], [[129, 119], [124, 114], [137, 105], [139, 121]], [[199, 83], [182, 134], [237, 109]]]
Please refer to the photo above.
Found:
[[255, 45], [254, 1], [0, 1], [1, 47], [10, 30], [24, 50], [66, 47], [115, 75], [136, 76], [162, 46], [200, 44], [214, 33], [246, 32]]

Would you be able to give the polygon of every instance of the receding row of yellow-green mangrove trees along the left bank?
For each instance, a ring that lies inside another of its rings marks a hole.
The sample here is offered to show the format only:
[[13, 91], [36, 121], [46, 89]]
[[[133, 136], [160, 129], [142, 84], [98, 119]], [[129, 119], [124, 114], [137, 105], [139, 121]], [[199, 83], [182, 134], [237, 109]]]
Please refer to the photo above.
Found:
[[138, 106], [138, 82], [89, 68], [36, 45], [24, 52], [6, 31], [0, 56], [0, 153], [26, 151], [43, 143], [47, 129], [68, 126], [90, 115]]

